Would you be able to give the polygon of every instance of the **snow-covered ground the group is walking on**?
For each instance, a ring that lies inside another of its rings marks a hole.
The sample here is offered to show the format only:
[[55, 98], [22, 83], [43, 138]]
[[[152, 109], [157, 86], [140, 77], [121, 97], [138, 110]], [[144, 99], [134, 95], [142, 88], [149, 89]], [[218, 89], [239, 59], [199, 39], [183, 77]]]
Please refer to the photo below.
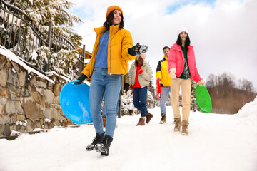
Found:
[[171, 107], [164, 125], [159, 108], [149, 111], [145, 126], [135, 126], [139, 115], [118, 119], [107, 157], [85, 150], [93, 125], [1, 139], [0, 170], [257, 170], [257, 98], [236, 115], [191, 112], [188, 136], [173, 132]]

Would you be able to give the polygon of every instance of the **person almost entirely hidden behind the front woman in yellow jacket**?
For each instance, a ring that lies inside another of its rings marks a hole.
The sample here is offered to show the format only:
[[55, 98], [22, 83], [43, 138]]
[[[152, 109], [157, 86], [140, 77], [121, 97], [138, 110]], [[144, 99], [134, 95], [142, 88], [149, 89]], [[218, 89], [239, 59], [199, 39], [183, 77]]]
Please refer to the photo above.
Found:
[[[121, 91], [120, 91], [120, 95], [119, 95], [119, 99], [118, 99], [118, 103], [117, 103], [117, 112], [119, 112], [119, 100], [121, 99], [121, 95], [124, 95], [124, 91], [125, 93], [129, 90], [129, 73], [126, 73], [126, 75], [121, 76]], [[103, 126], [104, 128], [106, 128], [106, 109], [105, 109], [105, 103], [103, 105]]]

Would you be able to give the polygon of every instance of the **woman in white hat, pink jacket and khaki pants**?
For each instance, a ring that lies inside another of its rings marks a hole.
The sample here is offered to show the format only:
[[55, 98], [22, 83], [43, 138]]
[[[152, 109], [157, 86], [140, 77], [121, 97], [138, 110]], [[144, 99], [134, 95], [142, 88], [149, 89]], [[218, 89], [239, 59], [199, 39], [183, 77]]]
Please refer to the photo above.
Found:
[[[171, 76], [171, 106], [174, 113], [174, 131], [180, 131], [182, 124], [182, 135], [188, 135], [191, 81], [196, 81], [199, 86], [204, 82], [196, 68], [196, 58], [193, 46], [186, 28], [179, 28], [177, 41], [171, 46], [168, 54], [168, 72]], [[179, 112], [179, 91], [182, 89], [182, 122]]]

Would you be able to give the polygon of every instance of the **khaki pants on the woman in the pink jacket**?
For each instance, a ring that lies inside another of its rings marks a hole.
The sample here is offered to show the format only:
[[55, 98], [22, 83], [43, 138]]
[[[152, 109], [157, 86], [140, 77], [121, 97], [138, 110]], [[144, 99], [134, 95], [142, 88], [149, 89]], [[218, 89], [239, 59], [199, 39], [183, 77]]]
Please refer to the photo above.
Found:
[[189, 121], [190, 98], [191, 98], [191, 78], [180, 79], [171, 78], [171, 106], [174, 118], [181, 118], [179, 112], [179, 91], [182, 89], [182, 121]]

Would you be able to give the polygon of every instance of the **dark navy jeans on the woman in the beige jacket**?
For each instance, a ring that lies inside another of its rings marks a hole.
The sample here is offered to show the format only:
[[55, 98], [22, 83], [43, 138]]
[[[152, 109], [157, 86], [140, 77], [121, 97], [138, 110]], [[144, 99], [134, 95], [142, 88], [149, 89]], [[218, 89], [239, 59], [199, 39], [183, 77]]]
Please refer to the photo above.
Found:
[[133, 88], [133, 105], [141, 111], [141, 117], [146, 117], [146, 95], [147, 87]]

